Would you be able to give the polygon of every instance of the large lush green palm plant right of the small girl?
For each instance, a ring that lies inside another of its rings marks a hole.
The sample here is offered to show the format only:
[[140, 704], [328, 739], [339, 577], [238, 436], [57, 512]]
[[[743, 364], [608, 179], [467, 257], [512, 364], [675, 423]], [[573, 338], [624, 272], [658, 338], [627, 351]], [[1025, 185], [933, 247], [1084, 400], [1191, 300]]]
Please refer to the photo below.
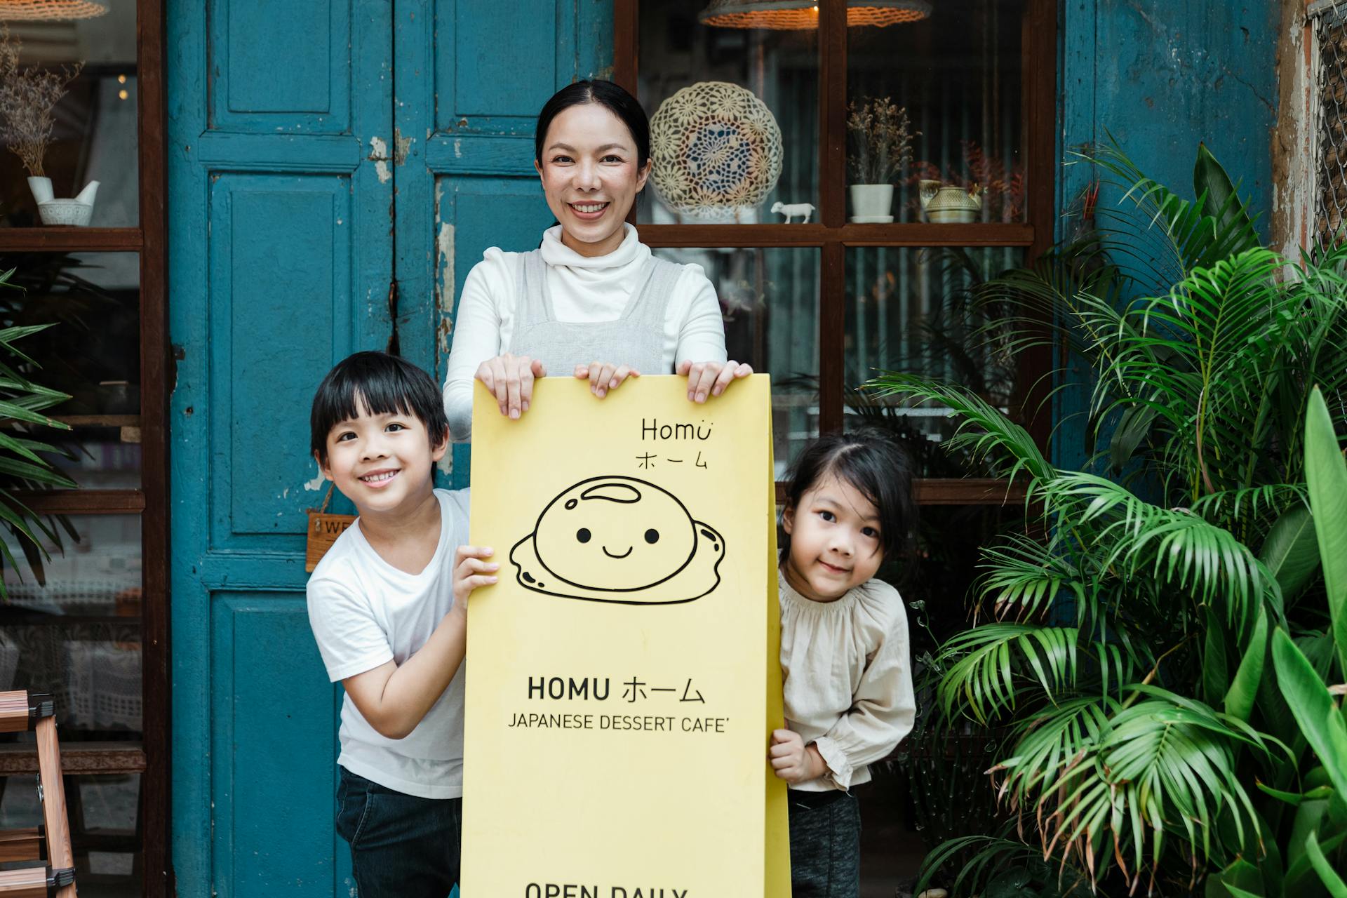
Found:
[[[1323, 681], [1344, 679], [1304, 421], [1317, 384], [1328, 439], [1347, 431], [1347, 249], [1292, 264], [1261, 246], [1204, 147], [1195, 199], [1114, 143], [1082, 160], [1118, 206], [981, 299], [1001, 311], [989, 338], [1002, 349], [1060, 341], [1090, 364], [1086, 467], [1052, 464], [963, 386], [870, 384], [950, 409], [950, 448], [1021, 481], [1044, 524], [1041, 539], [985, 548], [977, 626], [936, 656], [938, 710], [1009, 731], [993, 785], [1063, 889], [1083, 874], [1118, 894], [1336, 897], [1305, 875], [1319, 856], [1305, 805], [1323, 802], [1329, 866], [1347, 858], [1334, 841], [1347, 805], [1305, 769], [1315, 740], [1276, 668], [1290, 645]], [[1315, 695], [1324, 718], [1332, 703]], [[964, 871], [973, 889], [994, 872], [979, 863]]]

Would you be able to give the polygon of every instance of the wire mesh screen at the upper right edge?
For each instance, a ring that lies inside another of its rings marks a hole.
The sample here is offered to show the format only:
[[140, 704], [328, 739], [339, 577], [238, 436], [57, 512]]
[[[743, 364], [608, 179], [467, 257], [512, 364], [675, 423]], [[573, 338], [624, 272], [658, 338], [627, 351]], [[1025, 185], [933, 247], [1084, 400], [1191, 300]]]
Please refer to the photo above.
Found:
[[1313, 4], [1309, 20], [1319, 46], [1315, 236], [1324, 244], [1347, 236], [1347, 0], [1339, 3]]

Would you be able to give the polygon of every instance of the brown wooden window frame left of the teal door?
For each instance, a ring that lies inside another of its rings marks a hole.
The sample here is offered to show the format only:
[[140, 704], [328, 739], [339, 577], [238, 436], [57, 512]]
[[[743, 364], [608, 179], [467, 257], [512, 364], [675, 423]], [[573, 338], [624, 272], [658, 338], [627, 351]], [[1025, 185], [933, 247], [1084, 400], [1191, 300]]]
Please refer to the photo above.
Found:
[[[140, 222], [136, 228], [0, 228], [0, 252], [133, 252], [140, 261], [140, 489], [55, 490], [28, 506], [55, 514], [140, 514], [141, 697], [137, 745], [71, 743], [67, 774], [133, 773], [141, 780], [143, 894], [172, 894], [168, 856], [168, 277], [164, 3], [136, 0], [136, 102]], [[59, 409], [58, 409], [59, 411]], [[57, 417], [61, 417], [57, 415]], [[32, 753], [0, 753], [0, 775], [28, 770]]]

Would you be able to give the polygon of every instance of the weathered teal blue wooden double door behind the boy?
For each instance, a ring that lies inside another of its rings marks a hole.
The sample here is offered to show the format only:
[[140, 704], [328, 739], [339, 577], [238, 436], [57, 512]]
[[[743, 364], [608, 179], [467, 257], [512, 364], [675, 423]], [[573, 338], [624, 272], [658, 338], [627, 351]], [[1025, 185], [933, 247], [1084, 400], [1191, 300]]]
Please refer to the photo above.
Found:
[[[308, 404], [395, 329], [443, 377], [467, 269], [551, 221], [533, 117], [610, 35], [609, 0], [168, 0], [178, 894], [353, 894], [341, 688], [304, 607]], [[467, 483], [465, 448], [440, 482]]]

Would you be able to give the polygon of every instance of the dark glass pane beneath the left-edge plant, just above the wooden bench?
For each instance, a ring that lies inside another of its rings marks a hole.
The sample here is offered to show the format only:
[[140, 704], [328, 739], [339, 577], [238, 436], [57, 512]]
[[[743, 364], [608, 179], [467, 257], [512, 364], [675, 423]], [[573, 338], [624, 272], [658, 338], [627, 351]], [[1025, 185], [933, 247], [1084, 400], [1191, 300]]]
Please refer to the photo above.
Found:
[[140, 517], [69, 516], [75, 536], [61, 521], [43, 522], [51, 530], [42, 540], [44, 584], [3, 533], [19, 568], [4, 568], [0, 691], [55, 696], [62, 740], [139, 738]]

